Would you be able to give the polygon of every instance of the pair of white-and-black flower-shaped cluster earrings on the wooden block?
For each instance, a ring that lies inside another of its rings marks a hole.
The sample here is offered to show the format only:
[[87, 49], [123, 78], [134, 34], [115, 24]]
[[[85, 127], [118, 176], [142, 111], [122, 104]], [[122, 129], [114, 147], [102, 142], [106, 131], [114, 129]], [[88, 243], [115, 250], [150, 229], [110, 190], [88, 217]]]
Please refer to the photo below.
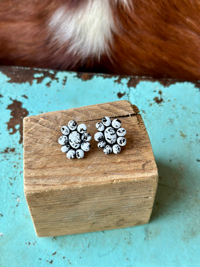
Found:
[[[95, 127], [98, 132], [94, 134], [94, 140], [98, 142], [98, 148], [103, 149], [105, 154], [118, 154], [121, 146], [126, 144], [126, 130], [121, 127], [120, 120], [111, 121], [109, 117], [103, 117]], [[90, 150], [91, 135], [86, 131], [85, 124], [77, 125], [73, 120], [69, 121], [67, 126], [61, 127], [62, 136], [59, 137], [58, 143], [62, 145], [61, 151], [66, 153], [67, 158], [83, 158], [84, 152]]]

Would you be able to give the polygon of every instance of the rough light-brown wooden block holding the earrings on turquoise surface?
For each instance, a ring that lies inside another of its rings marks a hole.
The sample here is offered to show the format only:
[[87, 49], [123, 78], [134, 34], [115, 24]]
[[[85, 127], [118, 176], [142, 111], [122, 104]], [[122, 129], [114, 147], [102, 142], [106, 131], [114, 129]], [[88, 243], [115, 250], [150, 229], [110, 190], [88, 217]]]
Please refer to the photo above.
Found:
[[[24, 193], [38, 236], [106, 230], [147, 223], [157, 168], [136, 106], [117, 101], [25, 117]], [[119, 118], [126, 146], [105, 155], [92, 138], [83, 159], [67, 159], [57, 140], [71, 119], [92, 137], [102, 117]]]

